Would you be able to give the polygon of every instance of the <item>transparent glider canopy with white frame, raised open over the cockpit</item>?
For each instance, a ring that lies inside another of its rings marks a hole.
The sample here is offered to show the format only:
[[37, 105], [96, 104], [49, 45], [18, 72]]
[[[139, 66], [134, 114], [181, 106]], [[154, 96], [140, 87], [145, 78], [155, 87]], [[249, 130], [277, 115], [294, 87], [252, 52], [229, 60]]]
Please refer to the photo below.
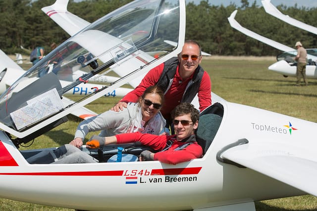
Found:
[[[185, 6], [178, 0], [136, 0], [88, 25], [0, 96], [0, 128], [23, 139], [66, 121], [63, 118], [74, 109], [122, 84], [139, 84], [147, 71], [180, 52], [184, 18]], [[178, 42], [178, 46], [166, 40]], [[120, 79], [104, 83], [104, 88], [74, 104], [62, 102], [63, 95], [109, 71]]]

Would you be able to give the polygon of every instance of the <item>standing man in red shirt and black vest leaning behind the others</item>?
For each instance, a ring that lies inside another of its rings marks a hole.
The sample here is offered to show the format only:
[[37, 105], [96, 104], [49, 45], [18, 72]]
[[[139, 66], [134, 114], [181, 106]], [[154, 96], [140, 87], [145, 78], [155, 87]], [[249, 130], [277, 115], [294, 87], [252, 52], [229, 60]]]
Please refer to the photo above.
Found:
[[199, 43], [193, 40], [185, 41], [178, 57], [173, 57], [150, 70], [142, 82], [111, 110], [119, 111], [126, 107], [128, 102], [137, 102], [147, 87], [157, 84], [164, 91], [166, 103], [161, 113], [167, 125], [171, 125], [171, 111], [181, 102], [190, 103], [197, 93], [199, 110], [203, 111], [211, 105], [211, 79], [199, 65], [201, 61]]

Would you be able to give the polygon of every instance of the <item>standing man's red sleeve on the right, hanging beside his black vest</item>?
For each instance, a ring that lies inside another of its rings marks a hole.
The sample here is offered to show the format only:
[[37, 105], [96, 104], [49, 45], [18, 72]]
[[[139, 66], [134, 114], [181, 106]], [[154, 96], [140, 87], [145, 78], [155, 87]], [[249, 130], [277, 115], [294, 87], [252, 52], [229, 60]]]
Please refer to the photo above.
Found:
[[198, 90], [198, 100], [200, 112], [211, 105], [211, 79], [206, 71]]

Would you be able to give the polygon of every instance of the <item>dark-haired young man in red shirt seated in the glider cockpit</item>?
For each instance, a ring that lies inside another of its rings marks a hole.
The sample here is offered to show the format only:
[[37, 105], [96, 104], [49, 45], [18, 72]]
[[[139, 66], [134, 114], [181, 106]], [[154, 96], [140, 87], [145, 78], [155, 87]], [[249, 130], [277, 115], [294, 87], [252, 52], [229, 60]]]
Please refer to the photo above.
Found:
[[[152, 105], [151, 105], [152, 106]], [[202, 147], [197, 143], [195, 130], [198, 127], [199, 112], [190, 103], [181, 103], [172, 112], [175, 135], [153, 135], [140, 132], [123, 133], [109, 137], [93, 135], [86, 147], [99, 148], [107, 144], [141, 142], [159, 152], [145, 150], [140, 161], [160, 161], [176, 165], [203, 155]]]

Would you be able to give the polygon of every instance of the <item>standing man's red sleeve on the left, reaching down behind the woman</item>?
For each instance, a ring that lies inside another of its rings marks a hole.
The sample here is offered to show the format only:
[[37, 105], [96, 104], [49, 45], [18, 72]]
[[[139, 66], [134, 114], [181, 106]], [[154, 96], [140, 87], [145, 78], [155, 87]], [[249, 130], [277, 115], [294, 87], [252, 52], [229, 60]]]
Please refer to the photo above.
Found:
[[139, 97], [142, 96], [145, 89], [149, 86], [156, 84], [164, 69], [164, 63], [150, 70], [147, 75], [142, 79], [141, 83], [135, 87], [134, 90], [127, 93], [120, 102], [138, 102]]

